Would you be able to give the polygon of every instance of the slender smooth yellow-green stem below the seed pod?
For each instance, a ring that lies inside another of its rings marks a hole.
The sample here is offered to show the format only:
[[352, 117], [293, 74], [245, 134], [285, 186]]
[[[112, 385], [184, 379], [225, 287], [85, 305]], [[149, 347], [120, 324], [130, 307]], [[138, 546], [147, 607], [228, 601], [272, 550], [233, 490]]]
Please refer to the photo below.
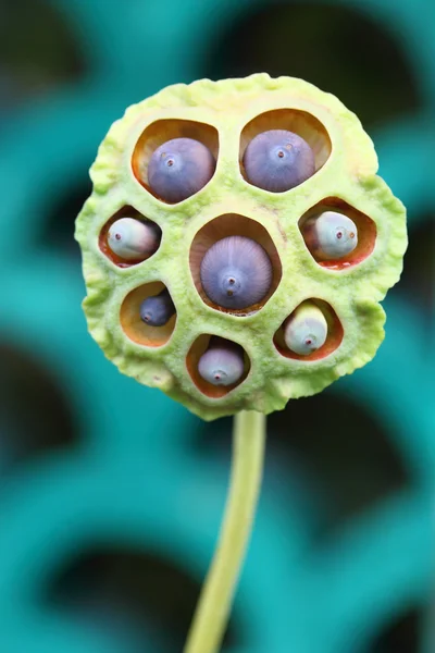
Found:
[[253, 411], [236, 415], [225, 516], [184, 653], [216, 653], [220, 649], [252, 530], [263, 472], [265, 416]]

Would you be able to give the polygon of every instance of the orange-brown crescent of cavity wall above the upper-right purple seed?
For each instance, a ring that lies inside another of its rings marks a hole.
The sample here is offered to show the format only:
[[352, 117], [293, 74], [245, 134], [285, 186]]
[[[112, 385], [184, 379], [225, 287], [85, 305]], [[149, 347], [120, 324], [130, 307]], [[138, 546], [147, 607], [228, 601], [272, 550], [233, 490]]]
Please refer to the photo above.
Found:
[[261, 134], [270, 130], [287, 130], [297, 134], [308, 143], [314, 153], [315, 172], [323, 168], [331, 156], [333, 146], [330, 135], [324, 125], [307, 111], [298, 109], [274, 109], [265, 111], [252, 119], [241, 130], [239, 146], [239, 167], [243, 177], [246, 176], [244, 167], [244, 155], [248, 144]]

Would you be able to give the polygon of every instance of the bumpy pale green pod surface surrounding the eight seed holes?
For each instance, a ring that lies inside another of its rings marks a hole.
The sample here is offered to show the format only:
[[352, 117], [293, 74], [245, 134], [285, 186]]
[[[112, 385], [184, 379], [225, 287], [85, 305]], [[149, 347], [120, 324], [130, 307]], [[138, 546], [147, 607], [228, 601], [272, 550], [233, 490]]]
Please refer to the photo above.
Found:
[[[271, 110], [293, 109], [318, 119], [332, 141], [326, 163], [300, 186], [273, 194], [248, 184], [239, 169], [239, 139], [245, 125]], [[174, 206], [144, 188], [132, 170], [142, 132], [159, 120], [191, 120], [219, 133], [217, 168], [210, 183]], [[240, 409], [263, 412], [284, 408], [289, 398], [311, 395], [373, 358], [384, 337], [384, 312], [377, 304], [397, 282], [407, 245], [405, 209], [375, 175], [373, 144], [358, 118], [331, 94], [301, 79], [257, 74], [217, 83], [208, 79], [170, 86], [130, 107], [111, 127], [91, 169], [92, 196], [77, 219], [76, 238], [84, 255], [88, 288], [84, 301], [90, 333], [120, 370], [160, 387], [206, 419]], [[327, 197], [345, 200], [376, 224], [372, 254], [346, 270], [328, 270], [311, 257], [299, 219]], [[162, 229], [158, 252], [142, 263], [121, 269], [98, 245], [105, 222], [133, 206]], [[212, 219], [237, 213], [260, 222], [278, 251], [283, 275], [258, 312], [239, 317], [207, 306], [194, 285], [189, 250], [195, 234]], [[135, 287], [162, 281], [177, 310], [175, 331], [161, 347], [134, 343], [120, 323], [122, 301]], [[333, 306], [344, 328], [341, 344], [315, 361], [291, 360], [273, 344], [274, 333], [304, 299]], [[231, 337], [245, 346], [248, 377], [227, 395], [206, 396], [192, 382], [186, 357], [201, 334]]]

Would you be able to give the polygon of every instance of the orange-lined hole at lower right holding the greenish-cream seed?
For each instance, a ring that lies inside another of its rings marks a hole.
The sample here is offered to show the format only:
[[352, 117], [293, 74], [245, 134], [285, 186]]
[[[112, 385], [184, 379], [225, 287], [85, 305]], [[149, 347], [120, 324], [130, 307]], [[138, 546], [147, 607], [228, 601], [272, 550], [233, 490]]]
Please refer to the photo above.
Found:
[[[309, 329], [307, 330], [307, 335], [304, 335], [304, 332], [302, 332], [302, 331], [299, 332], [299, 338], [303, 340], [304, 344], [307, 345], [306, 347], [303, 347], [302, 343], [298, 342], [298, 346], [295, 346], [295, 349], [290, 349], [287, 342], [291, 343], [291, 340], [289, 340], [289, 337], [286, 335], [286, 331], [288, 330], [288, 323], [293, 319], [297, 319], [298, 310], [302, 307], [302, 305], [307, 305], [307, 304], [310, 304], [315, 309], [320, 309], [321, 316], [326, 321], [326, 340], [324, 341], [324, 344], [322, 344], [319, 348], [313, 348], [313, 350], [311, 350], [311, 353], [309, 353], [309, 352], [311, 349], [313, 336], [311, 335], [311, 332]], [[335, 352], [335, 349], [337, 349], [337, 347], [339, 347], [339, 345], [343, 341], [343, 336], [344, 336], [344, 330], [341, 326], [341, 322], [339, 321], [337, 313], [335, 312], [333, 307], [330, 304], [327, 304], [327, 301], [324, 301], [323, 299], [313, 298], [313, 299], [310, 299], [309, 303], [304, 301], [304, 303], [300, 304], [288, 316], [288, 318], [283, 322], [283, 324], [276, 331], [276, 333], [274, 335], [274, 344], [275, 344], [275, 347], [277, 348], [277, 350], [279, 352], [279, 354], [282, 354], [282, 356], [285, 356], [286, 358], [293, 358], [295, 360], [311, 361], [311, 360], [320, 360], [321, 358], [325, 358], [326, 356], [330, 356], [330, 354], [332, 354], [333, 352]], [[304, 352], [307, 352], [307, 354], [297, 353], [296, 349], [298, 352], [304, 350]]]

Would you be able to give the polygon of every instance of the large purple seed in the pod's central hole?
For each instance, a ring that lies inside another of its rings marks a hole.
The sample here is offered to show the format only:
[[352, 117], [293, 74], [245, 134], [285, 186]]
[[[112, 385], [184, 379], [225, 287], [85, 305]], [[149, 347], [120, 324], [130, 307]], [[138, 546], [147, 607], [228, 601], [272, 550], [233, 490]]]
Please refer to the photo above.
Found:
[[265, 250], [245, 236], [217, 241], [201, 261], [204, 293], [224, 308], [248, 308], [261, 301], [272, 284], [272, 263]]

